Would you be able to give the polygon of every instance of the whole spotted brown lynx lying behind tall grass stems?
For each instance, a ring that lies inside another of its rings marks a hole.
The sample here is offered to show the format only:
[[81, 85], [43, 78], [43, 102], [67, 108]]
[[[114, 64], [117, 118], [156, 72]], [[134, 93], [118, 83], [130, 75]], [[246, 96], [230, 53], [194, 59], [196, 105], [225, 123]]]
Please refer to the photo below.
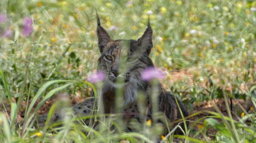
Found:
[[[116, 89], [123, 88], [123, 110], [124, 120], [127, 123], [135, 118], [141, 121], [140, 114], [145, 114], [146, 119], [152, 119], [152, 89], [153, 84], [150, 81], [142, 80], [141, 73], [148, 67], [154, 67], [150, 59], [150, 51], [152, 49], [152, 27], [149, 20], [146, 30], [138, 39], [118, 39], [113, 40], [106, 30], [101, 26], [100, 19], [97, 14], [97, 36], [100, 57], [98, 59], [98, 71], [106, 75], [103, 81], [102, 99], [104, 113], [116, 113]], [[120, 82], [121, 81], [121, 82]], [[158, 111], [162, 112], [170, 121], [181, 119], [181, 112], [176, 104], [174, 95], [166, 92], [162, 85], [158, 82]], [[138, 93], [142, 93], [146, 99], [144, 103], [147, 111], [140, 113], [138, 109]], [[188, 112], [183, 104], [178, 100], [178, 104], [184, 117], [188, 116]], [[74, 106], [73, 110], [78, 115], [88, 115], [94, 105], [94, 98], [85, 100]], [[58, 113], [55, 113], [52, 121], [59, 119]], [[44, 121], [46, 115], [40, 117], [40, 121]], [[183, 123], [180, 124], [184, 127]], [[181, 133], [177, 131], [176, 133]]]

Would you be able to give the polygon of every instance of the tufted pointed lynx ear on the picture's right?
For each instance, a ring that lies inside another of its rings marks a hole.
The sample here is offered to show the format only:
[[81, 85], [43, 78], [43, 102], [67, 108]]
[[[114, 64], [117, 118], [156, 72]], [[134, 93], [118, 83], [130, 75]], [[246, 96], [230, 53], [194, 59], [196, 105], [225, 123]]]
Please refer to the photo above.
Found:
[[153, 31], [149, 23], [149, 18], [148, 18], [148, 27], [144, 31], [143, 35], [138, 39], [138, 44], [140, 48], [142, 48], [143, 51], [146, 51], [146, 54], [149, 55], [150, 51], [152, 49], [152, 35]]

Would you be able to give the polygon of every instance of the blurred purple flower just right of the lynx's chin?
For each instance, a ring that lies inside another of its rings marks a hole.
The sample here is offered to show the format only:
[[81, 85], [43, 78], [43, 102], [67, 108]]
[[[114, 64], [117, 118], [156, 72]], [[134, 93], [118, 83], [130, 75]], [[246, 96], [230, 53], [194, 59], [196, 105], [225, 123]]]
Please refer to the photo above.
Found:
[[142, 80], [151, 80], [153, 78], [162, 79], [164, 78], [164, 72], [155, 69], [154, 67], [149, 67], [147, 69], [144, 69], [141, 73]]

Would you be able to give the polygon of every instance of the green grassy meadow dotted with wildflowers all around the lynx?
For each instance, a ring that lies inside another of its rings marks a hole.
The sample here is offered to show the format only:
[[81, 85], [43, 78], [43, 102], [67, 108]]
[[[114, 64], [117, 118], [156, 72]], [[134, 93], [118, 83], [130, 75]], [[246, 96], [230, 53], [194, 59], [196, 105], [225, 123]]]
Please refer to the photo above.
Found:
[[[113, 39], [138, 39], [146, 29], [148, 14], [153, 29], [150, 57], [156, 67], [166, 71], [162, 81], [191, 113], [193, 102], [224, 98], [252, 100], [254, 110], [234, 107], [224, 116], [216, 112], [190, 122], [186, 135], [170, 133], [165, 141], [181, 138], [186, 142], [256, 141], [256, 2], [253, 0], [1, 0], [0, 34], [10, 29], [10, 37], [0, 38], [0, 142], [152, 142], [158, 125], [140, 125], [140, 131], [126, 133], [118, 120], [109, 115], [101, 129], [86, 126], [81, 119], [66, 116], [60, 123], [33, 128], [36, 111], [55, 93], [90, 96], [94, 86], [85, 82], [96, 70], [100, 51], [96, 37], [96, 10], [102, 26]], [[32, 20], [31, 35], [22, 35], [23, 18]], [[110, 31], [115, 26], [117, 29]], [[122, 34], [124, 33], [125, 34]], [[174, 71], [189, 71], [178, 80]], [[231, 89], [231, 90], [230, 90]], [[15, 101], [15, 102], [14, 102]], [[26, 104], [24, 121], [16, 123]], [[36, 101], [35, 110], [33, 106]], [[54, 104], [50, 115], [64, 101]], [[5, 110], [10, 108], [8, 118]], [[222, 107], [224, 108], [224, 107]], [[227, 107], [225, 107], [227, 108]], [[68, 106], [65, 108], [70, 109]], [[229, 108], [227, 108], [229, 109]], [[248, 110], [248, 111], [247, 111]], [[241, 117], [241, 113], [245, 116]], [[71, 113], [70, 113], [71, 114]], [[98, 115], [97, 119], [102, 117]], [[218, 119], [218, 120], [216, 120]], [[80, 123], [75, 122], [79, 120]], [[189, 120], [189, 119], [188, 119]], [[221, 120], [221, 122], [219, 122]], [[72, 123], [70, 123], [72, 121]], [[181, 120], [180, 120], [181, 121]], [[137, 125], [134, 123], [135, 126]], [[202, 127], [196, 128], [200, 124]], [[116, 131], [110, 130], [116, 126]], [[139, 126], [139, 125], [138, 125]], [[211, 128], [215, 135], [209, 135]], [[172, 130], [172, 129], [170, 129]], [[86, 134], [86, 132], [88, 134]], [[163, 141], [163, 142], [165, 142]]]

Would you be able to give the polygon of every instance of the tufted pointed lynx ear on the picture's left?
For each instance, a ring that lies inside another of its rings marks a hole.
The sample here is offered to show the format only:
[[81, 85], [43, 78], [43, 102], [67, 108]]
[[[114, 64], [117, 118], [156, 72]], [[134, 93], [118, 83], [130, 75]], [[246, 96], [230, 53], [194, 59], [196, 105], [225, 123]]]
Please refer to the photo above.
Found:
[[108, 44], [108, 42], [112, 41], [107, 31], [100, 25], [100, 19], [96, 12], [97, 16], [97, 36], [98, 36], [98, 47], [100, 48], [100, 52], [102, 53], [104, 47]]

